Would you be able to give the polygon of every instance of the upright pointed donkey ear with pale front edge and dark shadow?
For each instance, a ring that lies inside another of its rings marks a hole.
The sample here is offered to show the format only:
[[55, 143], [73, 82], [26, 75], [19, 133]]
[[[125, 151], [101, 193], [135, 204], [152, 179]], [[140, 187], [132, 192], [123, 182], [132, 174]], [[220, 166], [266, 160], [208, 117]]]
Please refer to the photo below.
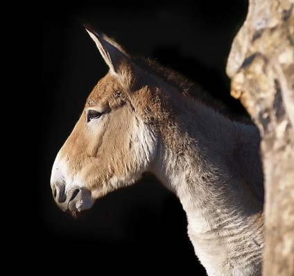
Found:
[[133, 71], [135, 70], [135, 64], [132, 63], [130, 55], [123, 51], [121, 46], [114, 40], [111, 40], [110, 37], [107, 37], [93, 26], [84, 24], [84, 27], [96, 43], [103, 59], [110, 68], [110, 72], [118, 78], [122, 85], [130, 85]]

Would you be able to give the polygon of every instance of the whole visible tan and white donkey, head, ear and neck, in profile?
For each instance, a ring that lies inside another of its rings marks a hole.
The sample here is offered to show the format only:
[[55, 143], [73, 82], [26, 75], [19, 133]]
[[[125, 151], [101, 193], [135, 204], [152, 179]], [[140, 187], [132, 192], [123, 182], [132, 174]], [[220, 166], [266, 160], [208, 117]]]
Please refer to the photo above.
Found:
[[[130, 57], [87, 26], [109, 73], [98, 81], [53, 164], [58, 206], [72, 214], [153, 173], [178, 196], [208, 275], [261, 275], [259, 132], [232, 121], [180, 74]], [[101, 117], [89, 118], [89, 111]]]

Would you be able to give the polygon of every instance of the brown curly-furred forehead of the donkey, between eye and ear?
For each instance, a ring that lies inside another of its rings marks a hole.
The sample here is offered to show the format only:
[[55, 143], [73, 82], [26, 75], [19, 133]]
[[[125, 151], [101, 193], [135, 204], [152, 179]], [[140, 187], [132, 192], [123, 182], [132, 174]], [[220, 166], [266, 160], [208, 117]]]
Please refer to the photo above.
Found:
[[96, 105], [105, 101], [110, 101], [110, 98], [117, 92], [121, 92], [121, 86], [116, 78], [107, 74], [104, 78], [98, 81], [92, 92], [87, 98], [86, 106]]

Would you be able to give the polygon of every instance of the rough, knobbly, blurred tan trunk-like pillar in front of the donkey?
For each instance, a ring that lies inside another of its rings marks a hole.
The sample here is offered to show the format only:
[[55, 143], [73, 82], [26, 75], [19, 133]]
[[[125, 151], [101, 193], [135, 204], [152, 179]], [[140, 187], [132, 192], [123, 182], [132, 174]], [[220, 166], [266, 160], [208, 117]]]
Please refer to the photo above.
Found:
[[250, 0], [227, 75], [261, 133], [263, 275], [294, 275], [294, 0]]

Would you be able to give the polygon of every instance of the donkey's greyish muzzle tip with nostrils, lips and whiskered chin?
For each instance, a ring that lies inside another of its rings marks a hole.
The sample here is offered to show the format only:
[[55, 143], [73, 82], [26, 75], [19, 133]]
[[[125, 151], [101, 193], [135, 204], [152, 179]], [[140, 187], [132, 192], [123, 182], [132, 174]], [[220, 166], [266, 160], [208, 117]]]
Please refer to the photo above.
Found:
[[85, 187], [73, 185], [65, 191], [62, 184], [53, 184], [52, 193], [58, 207], [64, 212], [77, 216], [81, 211], [94, 205], [91, 192]]

